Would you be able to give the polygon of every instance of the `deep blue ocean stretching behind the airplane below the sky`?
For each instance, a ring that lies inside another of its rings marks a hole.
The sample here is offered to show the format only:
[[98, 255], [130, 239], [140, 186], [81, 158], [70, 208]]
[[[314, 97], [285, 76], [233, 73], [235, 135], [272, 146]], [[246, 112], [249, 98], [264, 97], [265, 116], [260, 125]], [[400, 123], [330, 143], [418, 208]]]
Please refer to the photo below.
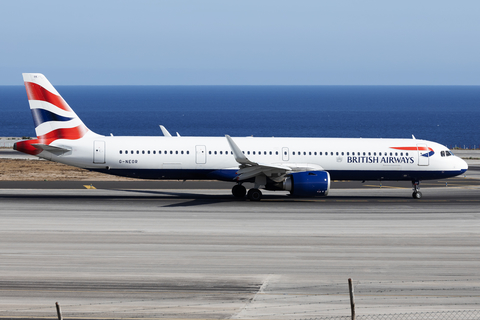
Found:
[[[411, 138], [480, 145], [480, 86], [56, 86], [116, 136]], [[0, 86], [0, 136], [35, 136], [23, 86]]]

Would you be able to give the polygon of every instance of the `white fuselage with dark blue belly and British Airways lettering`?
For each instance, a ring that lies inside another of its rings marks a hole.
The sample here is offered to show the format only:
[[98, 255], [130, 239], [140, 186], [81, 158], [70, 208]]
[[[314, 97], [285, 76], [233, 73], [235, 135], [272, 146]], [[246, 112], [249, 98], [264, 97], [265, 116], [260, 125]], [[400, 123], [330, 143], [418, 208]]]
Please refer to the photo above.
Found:
[[[467, 164], [438, 143], [416, 139], [233, 138], [253, 162], [293, 171], [324, 170], [332, 179], [425, 180], [455, 176]], [[40, 157], [105, 173], [150, 179], [231, 181], [238, 170], [224, 137], [113, 137], [56, 140], [71, 152]], [[416, 147], [427, 147], [417, 151]], [[403, 148], [403, 149], [402, 149]]]

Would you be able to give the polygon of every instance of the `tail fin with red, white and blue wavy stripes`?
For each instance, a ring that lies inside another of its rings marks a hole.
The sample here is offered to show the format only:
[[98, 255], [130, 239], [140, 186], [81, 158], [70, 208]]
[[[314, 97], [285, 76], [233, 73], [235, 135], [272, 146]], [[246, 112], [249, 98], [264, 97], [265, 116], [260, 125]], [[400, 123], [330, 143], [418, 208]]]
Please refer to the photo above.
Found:
[[24, 73], [23, 80], [41, 143], [48, 145], [57, 139], [77, 140], [97, 135], [83, 124], [43, 74]]

